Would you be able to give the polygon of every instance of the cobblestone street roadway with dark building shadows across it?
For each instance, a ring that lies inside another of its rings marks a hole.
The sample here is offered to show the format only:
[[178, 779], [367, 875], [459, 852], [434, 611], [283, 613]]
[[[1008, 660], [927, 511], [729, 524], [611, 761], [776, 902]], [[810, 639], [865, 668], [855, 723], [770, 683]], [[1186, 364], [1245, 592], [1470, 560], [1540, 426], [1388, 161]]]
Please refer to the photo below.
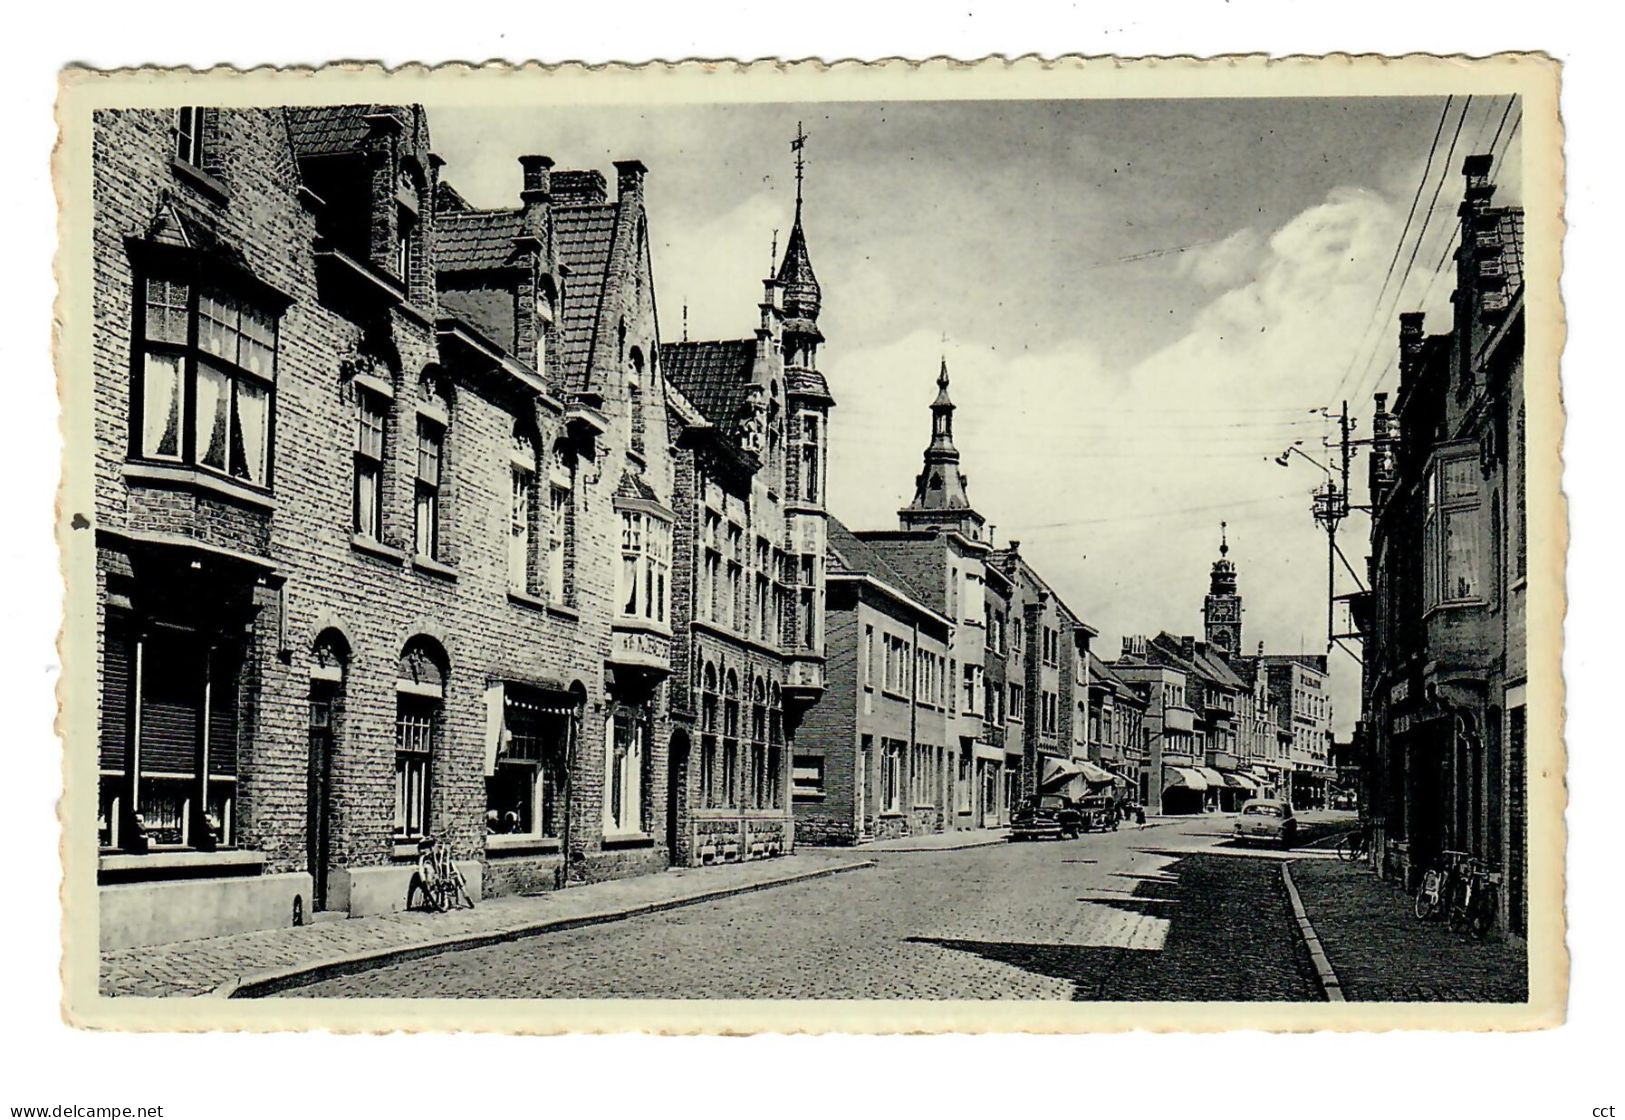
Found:
[[333, 979], [294, 996], [1318, 1000], [1228, 819], [864, 852], [878, 866]]

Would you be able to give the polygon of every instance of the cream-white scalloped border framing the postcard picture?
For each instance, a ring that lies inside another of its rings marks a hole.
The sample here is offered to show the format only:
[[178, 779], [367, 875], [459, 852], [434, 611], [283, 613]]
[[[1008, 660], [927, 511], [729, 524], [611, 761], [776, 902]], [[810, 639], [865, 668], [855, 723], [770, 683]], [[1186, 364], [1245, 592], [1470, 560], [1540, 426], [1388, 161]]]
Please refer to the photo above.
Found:
[[[200, 93], [208, 86], [206, 94]], [[1560, 1024], [1568, 1001], [1562, 621], [1568, 540], [1562, 493], [1563, 408], [1558, 359], [1565, 323], [1558, 291], [1563, 224], [1563, 135], [1558, 63], [1544, 54], [1142, 57], [999, 55], [925, 60], [655, 60], [648, 63], [512, 65], [505, 62], [315, 67], [68, 68], [60, 75], [54, 156], [58, 213], [57, 385], [63, 463], [57, 540], [67, 585], [60, 636], [63, 676], [57, 731], [94, 738], [94, 541], [73, 528], [93, 502], [89, 366], [89, 120], [98, 107], [192, 104], [336, 104], [346, 101], [468, 106], [500, 102], [821, 102], [952, 99], [1121, 99], [1404, 96], [1518, 93], [1524, 98], [1528, 260], [1529, 501], [1529, 992], [1528, 1005], [1248, 1005], [1248, 1003], [973, 1003], [973, 1001], [682, 1001], [682, 1000], [135, 1000], [96, 990], [96, 853], [91, 837], [94, 758], [63, 751], [60, 803], [63, 1018], [117, 1031], [492, 1031], [562, 1032], [1089, 1032], [1089, 1031], [1519, 1031]]]

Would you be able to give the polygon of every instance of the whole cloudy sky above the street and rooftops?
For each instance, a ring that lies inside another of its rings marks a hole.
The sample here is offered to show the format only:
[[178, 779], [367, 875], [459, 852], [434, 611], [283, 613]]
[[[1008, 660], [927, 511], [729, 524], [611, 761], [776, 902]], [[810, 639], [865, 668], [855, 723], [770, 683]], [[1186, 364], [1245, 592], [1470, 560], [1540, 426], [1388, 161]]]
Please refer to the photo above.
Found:
[[[1506, 107], [1451, 104], [1381, 315], [1443, 99], [431, 107], [431, 128], [444, 174], [481, 206], [517, 205], [522, 153], [611, 184], [613, 159], [642, 159], [674, 340], [684, 306], [691, 338], [749, 336], [775, 229], [783, 244], [791, 224], [803, 122], [821, 366], [838, 402], [832, 512], [895, 525], [946, 353], [972, 501], [1110, 657], [1124, 634], [1201, 632], [1220, 520], [1246, 647], [1324, 650], [1326, 538], [1308, 509], [1323, 475], [1272, 460], [1295, 441], [1323, 457], [1331, 429], [1311, 410], [1342, 397], [1367, 434], [1398, 310], [1448, 325], [1435, 265], [1461, 158], [1498, 130], [1497, 202], [1518, 200]], [[1367, 532], [1357, 514], [1341, 536], [1360, 567]], [[1358, 670], [1332, 663], [1347, 733]]]

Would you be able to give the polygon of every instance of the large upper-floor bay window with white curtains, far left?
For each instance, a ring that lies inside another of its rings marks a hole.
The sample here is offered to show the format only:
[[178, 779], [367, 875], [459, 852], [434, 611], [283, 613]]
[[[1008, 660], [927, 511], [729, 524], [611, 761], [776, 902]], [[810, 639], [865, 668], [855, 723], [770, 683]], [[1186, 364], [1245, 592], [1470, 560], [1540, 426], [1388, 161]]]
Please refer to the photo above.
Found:
[[276, 317], [177, 275], [141, 293], [132, 454], [268, 488]]

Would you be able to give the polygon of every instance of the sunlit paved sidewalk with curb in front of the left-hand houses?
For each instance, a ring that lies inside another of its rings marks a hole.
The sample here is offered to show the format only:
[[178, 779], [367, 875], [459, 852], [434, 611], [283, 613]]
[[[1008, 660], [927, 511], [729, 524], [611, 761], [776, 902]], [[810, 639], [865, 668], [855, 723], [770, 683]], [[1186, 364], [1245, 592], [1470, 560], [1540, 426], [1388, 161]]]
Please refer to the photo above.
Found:
[[829, 850], [798, 852], [778, 860], [674, 868], [566, 891], [491, 899], [473, 910], [396, 912], [119, 949], [101, 957], [101, 993], [250, 995], [289, 987], [296, 979], [341, 975], [403, 956], [491, 944], [551, 928], [614, 922], [866, 866], [873, 863], [838, 858]]

